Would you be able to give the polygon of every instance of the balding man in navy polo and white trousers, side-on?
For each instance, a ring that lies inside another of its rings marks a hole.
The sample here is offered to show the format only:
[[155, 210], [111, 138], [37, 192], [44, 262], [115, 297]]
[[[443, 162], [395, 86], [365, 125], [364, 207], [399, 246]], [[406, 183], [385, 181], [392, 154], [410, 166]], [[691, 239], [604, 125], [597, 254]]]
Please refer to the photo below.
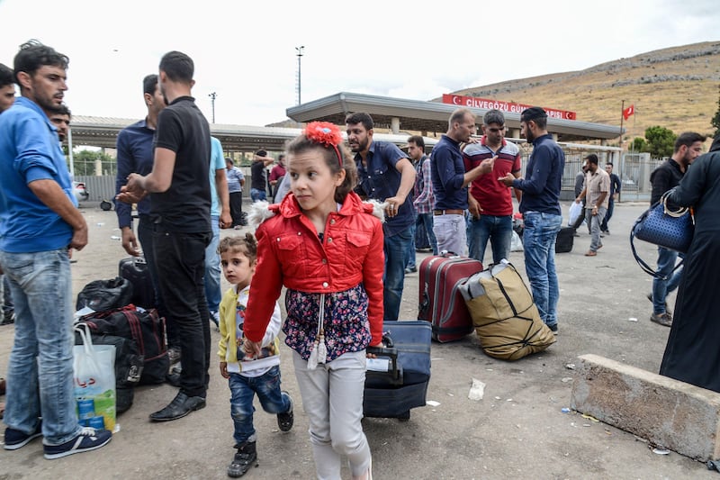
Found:
[[458, 108], [447, 123], [447, 133], [437, 142], [430, 157], [435, 195], [433, 232], [440, 252], [446, 250], [465, 255], [467, 186], [475, 178], [492, 171], [495, 157], [482, 160], [466, 172], [460, 144], [466, 143], [475, 133], [475, 115], [467, 108]]

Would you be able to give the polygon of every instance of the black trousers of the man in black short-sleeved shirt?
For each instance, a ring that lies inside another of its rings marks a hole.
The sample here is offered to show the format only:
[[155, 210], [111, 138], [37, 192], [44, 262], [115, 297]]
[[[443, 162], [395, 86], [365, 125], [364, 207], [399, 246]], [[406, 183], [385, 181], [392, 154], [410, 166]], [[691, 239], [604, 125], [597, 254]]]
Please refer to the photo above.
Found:
[[163, 231], [155, 225], [153, 247], [167, 322], [181, 349], [180, 391], [205, 397], [210, 382], [210, 318], [202, 277], [211, 232]]

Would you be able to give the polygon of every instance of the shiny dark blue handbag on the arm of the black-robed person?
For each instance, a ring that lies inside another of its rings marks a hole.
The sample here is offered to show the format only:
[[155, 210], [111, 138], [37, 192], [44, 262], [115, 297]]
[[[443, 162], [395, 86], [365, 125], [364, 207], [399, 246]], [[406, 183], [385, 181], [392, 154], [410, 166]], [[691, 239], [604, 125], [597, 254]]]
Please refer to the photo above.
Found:
[[[645, 273], [662, 279], [668, 277], [660, 276], [637, 255], [634, 240], [637, 238], [680, 253], [688, 252], [695, 233], [695, 220], [689, 208], [681, 207], [675, 211], [668, 208], [667, 195], [669, 192], [663, 194], [659, 202], [640, 215], [633, 228], [630, 229], [630, 248], [633, 250], [635, 261]], [[682, 261], [672, 269], [672, 272], [677, 270], [680, 265], [682, 265]]]

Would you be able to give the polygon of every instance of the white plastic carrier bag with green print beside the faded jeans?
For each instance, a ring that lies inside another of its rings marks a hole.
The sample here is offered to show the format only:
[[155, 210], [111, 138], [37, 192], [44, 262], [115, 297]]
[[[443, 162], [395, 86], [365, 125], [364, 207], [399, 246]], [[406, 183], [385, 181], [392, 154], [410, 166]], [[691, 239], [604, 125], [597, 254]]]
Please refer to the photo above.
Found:
[[103, 417], [104, 427], [115, 430], [115, 346], [94, 345], [84, 323], [77, 324], [82, 345], [73, 347], [73, 382], [76, 401], [93, 400], [94, 416]]

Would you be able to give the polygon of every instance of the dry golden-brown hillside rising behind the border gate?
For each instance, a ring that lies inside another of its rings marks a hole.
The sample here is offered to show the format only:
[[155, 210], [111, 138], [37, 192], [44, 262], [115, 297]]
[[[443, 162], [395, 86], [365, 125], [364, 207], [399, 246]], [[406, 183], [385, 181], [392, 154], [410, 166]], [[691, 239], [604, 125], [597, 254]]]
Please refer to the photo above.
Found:
[[653, 125], [676, 134], [711, 134], [710, 121], [720, 99], [720, 41], [655, 50], [580, 71], [454, 93], [570, 110], [577, 113], [579, 121], [618, 126], [625, 100], [626, 107], [635, 104], [635, 116], [624, 123], [625, 141], [643, 137], [645, 129]]

